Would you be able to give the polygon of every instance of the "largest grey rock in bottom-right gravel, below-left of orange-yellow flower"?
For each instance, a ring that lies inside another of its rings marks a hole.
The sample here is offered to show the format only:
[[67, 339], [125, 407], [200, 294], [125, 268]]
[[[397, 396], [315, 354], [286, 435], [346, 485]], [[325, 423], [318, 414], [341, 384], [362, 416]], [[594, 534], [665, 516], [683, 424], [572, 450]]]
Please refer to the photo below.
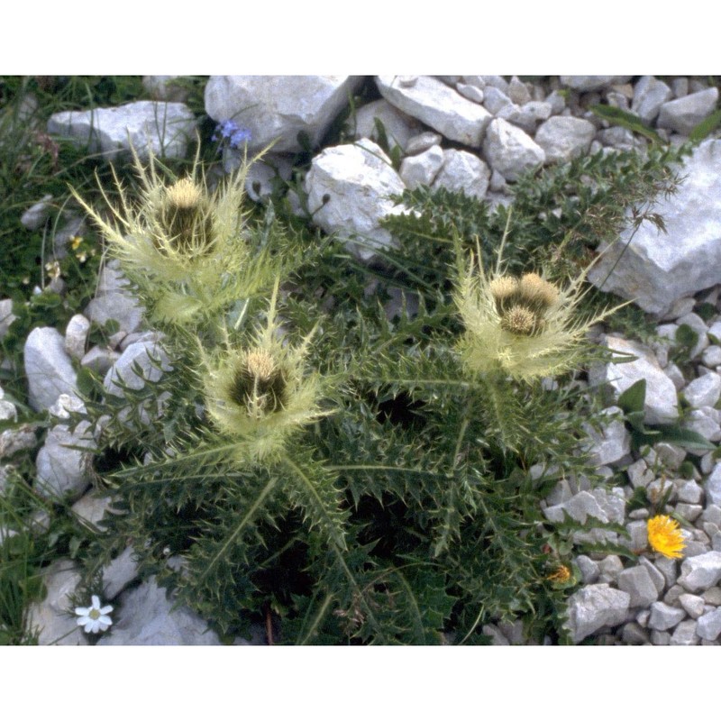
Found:
[[624, 623], [629, 603], [627, 593], [611, 589], [607, 583], [586, 586], [569, 598], [569, 616], [564, 627], [573, 643], [579, 643], [604, 626]]

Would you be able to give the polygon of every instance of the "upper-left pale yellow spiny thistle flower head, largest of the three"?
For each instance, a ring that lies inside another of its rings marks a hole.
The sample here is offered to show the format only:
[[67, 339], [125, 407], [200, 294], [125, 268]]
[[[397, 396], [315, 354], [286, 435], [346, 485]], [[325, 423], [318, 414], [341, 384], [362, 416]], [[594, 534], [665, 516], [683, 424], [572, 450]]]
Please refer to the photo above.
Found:
[[147, 165], [134, 150], [133, 156], [140, 180], [137, 199], [117, 176], [119, 205], [101, 187], [110, 220], [74, 195], [156, 320], [185, 324], [270, 286], [275, 266], [267, 253], [252, 257], [247, 242], [247, 161], [211, 192], [197, 155], [187, 176], [180, 178], [161, 167], [152, 153]]

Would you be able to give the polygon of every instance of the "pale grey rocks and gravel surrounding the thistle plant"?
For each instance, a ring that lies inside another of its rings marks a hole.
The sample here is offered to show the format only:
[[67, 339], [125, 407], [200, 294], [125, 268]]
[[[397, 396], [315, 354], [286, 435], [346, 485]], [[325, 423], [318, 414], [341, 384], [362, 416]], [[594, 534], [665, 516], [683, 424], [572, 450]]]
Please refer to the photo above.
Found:
[[[150, 142], [154, 151], [183, 156], [196, 118], [182, 92], [169, 77], [145, 78], [156, 101], [81, 113], [59, 113], [48, 123], [50, 134], [90, 141], [108, 160], [127, 157], [129, 141], [137, 148]], [[682, 142], [712, 114], [718, 90], [695, 78], [560, 77], [522, 82], [498, 76], [374, 78], [381, 99], [364, 105], [354, 119], [356, 142], [317, 152], [306, 178], [307, 207], [294, 199], [297, 213], [309, 212], [327, 232], [341, 233], [360, 258], [368, 260], [373, 247], [391, 242], [379, 221], [402, 212], [388, 199], [404, 188], [463, 188], [490, 202], [507, 202], [507, 190], [526, 169], [564, 162], [580, 154], [615, 149], [643, 151], [645, 141], [625, 128], [610, 126], [589, 108], [598, 102], [629, 110], [671, 142]], [[210, 78], [205, 88], [205, 111], [214, 121], [234, 119], [250, 132], [248, 151], [264, 148], [279, 138], [263, 163], [253, 167], [248, 192], [270, 192], [277, 174], [289, 178], [291, 156], [301, 151], [298, 133], [312, 143], [324, 133], [360, 85], [354, 77], [226, 77]], [[180, 94], [178, 95], [178, 92]], [[381, 150], [374, 120], [379, 118], [391, 147], [398, 148], [399, 170]], [[93, 129], [91, 133], [91, 128]], [[244, 136], [247, 137], [247, 136]], [[228, 136], [232, 140], [232, 136]], [[452, 143], [452, 147], [449, 146]], [[227, 167], [240, 150], [226, 143]], [[671, 443], [657, 443], [642, 455], [632, 452], [625, 424], [616, 415], [617, 397], [638, 379], [645, 379], [644, 420], [671, 423], [697, 431], [709, 442], [721, 441], [721, 141], [703, 141], [686, 162], [679, 193], [661, 199], [655, 208], [668, 233], [642, 225], [613, 269], [614, 249], [607, 253], [591, 280], [634, 302], [658, 320], [659, 342], [644, 347], [616, 336], [598, 340], [615, 351], [630, 351], [637, 360], [597, 368], [591, 383], [607, 382], [607, 425], [602, 433], [589, 428], [592, 452], [603, 475], [625, 472], [624, 487], [590, 488], [582, 480], [561, 481], [543, 509], [549, 519], [568, 514], [585, 523], [591, 517], [624, 525], [630, 536], [607, 530], [589, 531], [589, 540], [609, 540], [634, 551], [647, 549], [648, 511], [629, 510], [637, 488], [649, 497], [670, 489], [669, 504], [688, 522], [683, 559], [652, 552], [635, 565], [615, 554], [578, 559], [583, 585], [569, 601], [569, 626], [576, 643], [653, 645], [717, 645], [721, 643], [721, 463], [713, 452], [696, 452], [698, 467], [684, 463], [694, 451]], [[40, 199], [39, 199], [40, 200]], [[40, 227], [48, 209], [40, 202], [28, 208], [23, 224]], [[56, 235], [56, 253], [67, 251], [68, 238], [82, 220], [66, 219], [68, 229]], [[364, 243], [353, 243], [353, 238]], [[91, 321], [113, 318], [119, 330], [107, 346], [88, 343]], [[0, 300], [0, 336], [13, 319], [9, 300]], [[90, 488], [87, 451], [94, 439], [78, 426], [68, 430], [68, 410], [81, 406], [76, 397], [76, 367], [105, 373], [109, 393], [118, 378], [137, 380], [134, 363], [148, 375], [160, 370], [151, 364], [158, 337], [141, 332], [141, 308], [123, 287], [111, 263], [100, 278], [96, 297], [82, 315], [64, 329], [39, 328], [27, 338], [25, 372], [35, 410], [49, 409], [56, 419], [37, 455], [35, 489], [46, 497], [66, 494], [73, 510], [88, 523], [102, 523], [107, 499]], [[679, 348], [677, 331], [695, 332], [686, 376], [673, 360]], [[665, 339], [665, 341], [663, 340]], [[167, 360], [167, 359], [166, 359]], [[689, 379], [691, 369], [692, 378]], [[3, 399], [0, 419], [16, 417], [16, 408]], [[32, 448], [32, 429], [6, 430], [0, 435], [0, 492], [11, 455]], [[74, 448], [69, 449], [67, 445]], [[38, 518], [39, 525], [42, 518]], [[1, 538], [2, 536], [0, 536]], [[220, 643], [205, 623], [187, 609], [170, 612], [170, 603], [152, 580], [125, 589], [135, 578], [131, 553], [125, 552], [105, 569], [105, 600], [122, 598], [122, 614], [114, 619], [113, 634], [101, 644]], [[32, 623], [40, 625], [41, 643], [87, 643], [73, 616], [65, 612], [68, 594], [78, 573], [71, 561], [56, 561], [47, 572], [48, 596], [32, 609]], [[122, 596], [121, 596], [122, 595]], [[488, 625], [495, 643], [523, 643], [519, 625]], [[256, 639], [257, 640], [257, 639]], [[247, 642], [246, 642], [247, 643]]]

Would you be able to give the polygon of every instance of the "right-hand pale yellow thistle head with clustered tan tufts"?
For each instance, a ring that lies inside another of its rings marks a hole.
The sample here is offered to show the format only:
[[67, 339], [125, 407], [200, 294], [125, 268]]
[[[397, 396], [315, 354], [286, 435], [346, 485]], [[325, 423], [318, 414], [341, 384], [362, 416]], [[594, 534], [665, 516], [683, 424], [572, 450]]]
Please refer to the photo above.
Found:
[[455, 301], [466, 329], [459, 344], [465, 368], [527, 382], [569, 370], [590, 326], [615, 308], [579, 319], [585, 273], [563, 288], [538, 273], [516, 278], [504, 272], [501, 251], [493, 272], [483, 268], [479, 249], [478, 261], [471, 254], [459, 272]]

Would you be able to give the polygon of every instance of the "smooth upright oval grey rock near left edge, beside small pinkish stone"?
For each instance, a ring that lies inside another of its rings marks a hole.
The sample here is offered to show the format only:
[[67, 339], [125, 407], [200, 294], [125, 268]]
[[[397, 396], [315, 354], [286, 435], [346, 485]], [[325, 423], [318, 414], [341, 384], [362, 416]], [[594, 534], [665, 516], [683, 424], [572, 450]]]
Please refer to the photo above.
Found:
[[31, 331], [25, 341], [24, 364], [34, 410], [49, 408], [60, 393], [76, 394], [78, 376], [65, 351], [65, 341], [55, 328]]

